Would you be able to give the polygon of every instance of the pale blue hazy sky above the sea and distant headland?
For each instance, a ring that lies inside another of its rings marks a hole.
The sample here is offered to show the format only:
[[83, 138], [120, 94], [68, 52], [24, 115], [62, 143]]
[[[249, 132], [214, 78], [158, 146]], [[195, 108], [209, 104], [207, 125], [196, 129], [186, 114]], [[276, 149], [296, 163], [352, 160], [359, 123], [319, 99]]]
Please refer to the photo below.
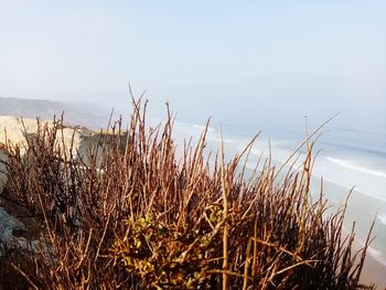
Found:
[[[386, 123], [386, 1], [0, 0], [0, 96]], [[262, 116], [262, 117], [261, 117]]]

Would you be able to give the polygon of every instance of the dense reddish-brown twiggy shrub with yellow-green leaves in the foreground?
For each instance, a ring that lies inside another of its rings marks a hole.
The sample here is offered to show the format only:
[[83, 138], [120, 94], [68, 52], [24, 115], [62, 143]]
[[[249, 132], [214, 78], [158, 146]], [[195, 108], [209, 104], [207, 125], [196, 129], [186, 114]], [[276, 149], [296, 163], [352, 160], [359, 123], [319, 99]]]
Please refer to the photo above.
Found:
[[169, 114], [147, 129], [135, 101], [127, 135], [116, 122], [85, 159], [57, 142], [61, 121], [40, 126], [24, 155], [2, 146], [3, 196], [45, 225], [39, 250], [3, 257], [3, 287], [371, 289], [358, 284], [368, 240], [353, 253], [344, 208], [328, 216], [322, 196], [310, 200], [311, 140], [302, 169], [277, 184], [270, 160], [245, 178], [253, 142], [225, 162], [223, 148], [204, 152], [204, 131], [178, 158], [172, 127]]

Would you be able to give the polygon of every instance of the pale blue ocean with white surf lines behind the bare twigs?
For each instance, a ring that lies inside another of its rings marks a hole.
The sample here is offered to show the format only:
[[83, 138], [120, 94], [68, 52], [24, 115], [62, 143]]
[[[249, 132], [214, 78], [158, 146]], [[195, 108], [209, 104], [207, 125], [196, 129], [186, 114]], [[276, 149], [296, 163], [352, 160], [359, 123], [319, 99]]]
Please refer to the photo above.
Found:
[[[203, 130], [203, 125], [175, 122], [174, 136], [181, 140], [192, 137], [195, 141]], [[240, 152], [254, 133], [258, 132], [246, 130], [243, 126], [224, 126], [222, 131], [228, 158]], [[304, 131], [303, 128], [268, 127], [254, 146], [247, 167], [253, 170], [260, 157], [267, 158], [269, 146], [275, 162], [278, 165], [282, 164], [304, 140]], [[386, 270], [386, 127], [332, 123], [326, 125], [321, 132], [313, 151], [314, 154], [318, 152], [318, 155], [313, 168], [311, 194], [319, 196], [322, 178], [323, 194], [328, 204], [332, 211], [337, 211], [352, 192], [344, 228], [349, 232], [355, 222], [355, 240], [361, 246], [364, 245], [375, 221], [372, 233], [372, 237], [375, 238], [367, 253], [384, 265]], [[206, 152], [219, 149], [221, 136], [219, 126], [208, 128]], [[304, 149], [300, 150], [299, 167], [304, 152]]]

